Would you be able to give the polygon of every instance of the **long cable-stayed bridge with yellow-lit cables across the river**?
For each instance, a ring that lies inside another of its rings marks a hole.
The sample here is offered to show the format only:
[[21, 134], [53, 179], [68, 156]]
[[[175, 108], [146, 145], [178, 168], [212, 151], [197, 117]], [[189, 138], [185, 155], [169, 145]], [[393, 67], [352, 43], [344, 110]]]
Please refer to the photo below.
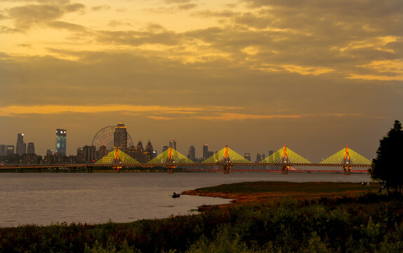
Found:
[[339, 167], [343, 168], [344, 174], [349, 175], [353, 167], [371, 167], [371, 161], [362, 155], [359, 155], [359, 153], [354, 150], [349, 149], [348, 146], [345, 146], [345, 148], [326, 158], [322, 162], [312, 163], [293, 152], [291, 149], [286, 148], [286, 145], [284, 145], [284, 147], [258, 163], [249, 162], [249, 160], [246, 160], [242, 155], [239, 155], [234, 152], [234, 150], [225, 146], [222, 150], [199, 163], [192, 162], [192, 160], [170, 147], [169, 150], [165, 150], [163, 153], [150, 160], [150, 162], [141, 164], [134, 158], [116, 148], [93, 164], [1, 165], [0, 169], [15, 169], [17, 171], [22, 171], [23, 169], [34, 169], [34, 171], [39, 171], [40, 169], [84, 168], [87, 171], [92, 171], [94, 168], [112, 167], [114, 171], [119, 172], [123, 168], [130, 167], [166, 167], [169, 173], [173, 173], [173, 169], [176, 167], [198, 167], [209, 169], [217, 166], [223, 169], [224, 174], [228, 174], [232, 167], [246, 167], [246, 170], [251, 170], [251, 168], [275, 166], [281, 170], [282, 174], [288, 174], [289, 170], [293, 170], [292, 167]]

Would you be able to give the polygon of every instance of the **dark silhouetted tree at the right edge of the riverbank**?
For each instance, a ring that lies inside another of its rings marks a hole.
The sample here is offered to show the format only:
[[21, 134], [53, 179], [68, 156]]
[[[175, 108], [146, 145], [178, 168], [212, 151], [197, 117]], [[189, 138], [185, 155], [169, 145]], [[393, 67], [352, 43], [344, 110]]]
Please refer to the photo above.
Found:
[[393, 128], [379, 141], [376, 159], [371, 164], [371, 178], [389, 188], [397, 188], [402, 193], [403, 168], [400, 163], [403, 155], [402, 124], [395, 120]]

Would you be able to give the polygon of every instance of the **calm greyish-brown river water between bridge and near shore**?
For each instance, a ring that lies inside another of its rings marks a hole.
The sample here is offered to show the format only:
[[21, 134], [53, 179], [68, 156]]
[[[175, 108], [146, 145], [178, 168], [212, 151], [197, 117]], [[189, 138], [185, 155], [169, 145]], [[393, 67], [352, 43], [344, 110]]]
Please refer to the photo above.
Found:
[[0, 226], [105, 223], [190, 214], [229, 202], [173, 192], [242, 181], [371, 181], [369, 175], [278, 173], [0, 174]]

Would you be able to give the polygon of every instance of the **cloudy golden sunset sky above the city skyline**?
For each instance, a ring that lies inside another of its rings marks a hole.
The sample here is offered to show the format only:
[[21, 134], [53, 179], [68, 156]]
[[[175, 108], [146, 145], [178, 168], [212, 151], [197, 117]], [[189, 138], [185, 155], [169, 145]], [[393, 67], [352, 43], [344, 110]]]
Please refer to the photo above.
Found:
[[0, 144], [368, 159], [403, 120], [401, 0], [1, 0]]

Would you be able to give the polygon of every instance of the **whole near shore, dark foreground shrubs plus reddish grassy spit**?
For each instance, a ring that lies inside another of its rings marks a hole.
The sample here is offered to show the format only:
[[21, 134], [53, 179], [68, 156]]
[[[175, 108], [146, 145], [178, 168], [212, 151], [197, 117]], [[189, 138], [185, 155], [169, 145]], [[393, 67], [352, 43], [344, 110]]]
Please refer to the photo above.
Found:
[[403, 252], [403, 198], [378, 183], [244, 182], [201, 214], [0, 228], [0, 252]]

